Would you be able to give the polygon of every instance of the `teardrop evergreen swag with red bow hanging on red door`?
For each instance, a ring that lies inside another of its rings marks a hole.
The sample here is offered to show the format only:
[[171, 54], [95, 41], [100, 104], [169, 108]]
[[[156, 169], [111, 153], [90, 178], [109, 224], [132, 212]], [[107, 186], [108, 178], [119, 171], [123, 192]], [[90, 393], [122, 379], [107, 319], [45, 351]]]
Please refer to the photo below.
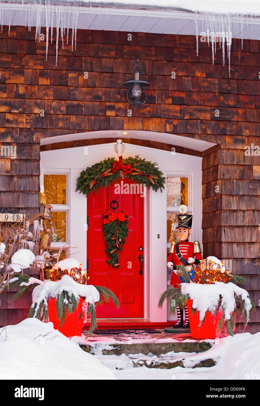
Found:
[[116, 268], [120, 266], [118, 262], [119, 251], [123, 250], [123, 245], [126, 242], [128, 235], [127, 225], [129, 223], [128, 216], [123, 212], [108, 211], [103, 217], [103, 234], [106, 240], [107, 247], [105, 252], [108, 254], [109, 259], [107, 263]]

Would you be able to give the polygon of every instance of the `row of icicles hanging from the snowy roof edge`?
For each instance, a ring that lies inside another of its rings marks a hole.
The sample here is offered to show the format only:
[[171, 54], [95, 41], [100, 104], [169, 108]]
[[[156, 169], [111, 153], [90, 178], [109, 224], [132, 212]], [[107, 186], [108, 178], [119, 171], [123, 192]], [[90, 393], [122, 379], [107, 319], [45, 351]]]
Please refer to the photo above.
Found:
[[[86, 6], [91, 7], [91, 2], [86, 2]], [[62, 49], [64, 47], [64, 41], [68, 44], [69, 36], [69, 27], [72, 29], [72, 43], [71, 51], [73, 48], [76, 49], [77, 44], [77, 26], [80, 17], [80, 9], [85, 6], [77, 6], [71, 4], [51, 4], [51, 0], [34, 0], [34, 2], [1, 2], [0, 0], [0, 25], [3, 25], [3, 21], [9, 21], [9, 32], [11, 26], [12, 13], [15, 10], [15, 7], [10, 4], [19, 4], [21, 6], [21, 21], [24, 26], [27, 26], [31, 30], [32, 26], [36, 26], [36, 41], [40, 41], [41, 28], [46, 26], [46, 60], [48, 55], [48, 45], [49, 37], [52, 43], [53, 40], [53, 26], [57, 27], [56, 32], [56, 65], [58, 59], [58, 39], [61, 34], [62, 39]], [[96, 12], [96, 8], [94, 9]], [[101, 9], [99, 8], [99, 12]], [[107, 19], [109, 21], [109, 12], [107, 13]], [[236, 21], [235, 24], [232, 21]], [[195, 26], [196, 26], [196, 41], [197, 41], [197, 56], [198, 56], [198, 37], [201, 35], [199, 32], [198, 25], [202, 25], [202, 32], [206, 33], [206, 40], [210, 46], [212, 46], [212, 63], [214, 64], [214, 56], [217, 50], [217, 42], [219, 41], [215, 33], [224, 33], [225, 41], [221, 43], [220, 48], [222, 47], [222, 57], [223, 65], [225, 63], [225, 46], [227, 46], [227, 57], [229, 65], [229, 74], [230, 74], [230, 47], [232, 43], [232, 36], [237, 35], [239, 30], [241, 30], [242, 35], [242, 49], [243, 49], [243, 26], [244, 26], [244, 17], [240, 15], [231, 16], [231, 15], [220, 15], [220, 14], [201, 14], [195, 13]], [[240, 29], [239, 29], [240, 24]], [[234, 31], [232, 32], [232, 25], [234, 26]], [[248, 25], [248, 23], [247, 23]]]

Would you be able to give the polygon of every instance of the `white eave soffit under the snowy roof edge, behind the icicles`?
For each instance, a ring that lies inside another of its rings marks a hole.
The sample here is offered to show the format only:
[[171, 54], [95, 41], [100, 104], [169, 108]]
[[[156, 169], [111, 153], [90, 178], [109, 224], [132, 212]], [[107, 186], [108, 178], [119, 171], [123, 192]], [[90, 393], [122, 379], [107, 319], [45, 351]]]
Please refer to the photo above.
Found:
[[[27, 0], [28, 1], [28, 0]], [[28, 24], [28, 13], [32, 13], [34, 4], [24, 2], [2, 3], [1, 8], [1, 23], [5, 25], [21, 25]], [[57, 1], [58, 2], [58, 1]], [[95, 3], [94, 3], [95, 4]], [[94, 5], [93, 4], [93, 5]], [[97, 4], [97, 3], [96, 3]], [[169, 9], [139, 9], [128, 8], [126, 5], [117, 4], [116, 6], [92, 6], [90, 7], [85, 2], [64, 2], [57, 6], [55, 2], [47, 3], [47, 8], [51, 10], [59, 10], [65, 13], [66, 28], [85, 29], [85, 30], [107, 30], [107, 31], [126, 31], [126, 32], [152, 32], [158, 34], [181, 34], [181, 35], [196, 35], [195, 19], [200, 21], [203, 15], [192, 11], [180, 10], [178, 8]], [[35, 12], [30, 17], [30, 25], [36, 26], [36, 23], [41, 26], [46, 26], [45, 21], [45, 4], [35, 3]], [[40, 7], [40, 8], [39, 8]], [[36, 13], [37, 11], [37, 13]], [[38, 13], [40, 14], [38, 15]], [[72, 15], [77, 15], [77, 24], [75, 24]], [[70, 17], [69, 17], [70, 16]], [[36, 21], [37, 17], [37, 21]], [[65, 17], [64, 17], [65, 21]], [[238, 16], [232, 17], [232, 37], [241, 38], [241, 29], [237, 29]], [[260, 17], [243, 17], [243, 38], [244, 39], [260, 39]], [[56, 14], [53, 18], [53, 27], [57, 26]], [[253, 28], [252, 28], [253, 27]]]

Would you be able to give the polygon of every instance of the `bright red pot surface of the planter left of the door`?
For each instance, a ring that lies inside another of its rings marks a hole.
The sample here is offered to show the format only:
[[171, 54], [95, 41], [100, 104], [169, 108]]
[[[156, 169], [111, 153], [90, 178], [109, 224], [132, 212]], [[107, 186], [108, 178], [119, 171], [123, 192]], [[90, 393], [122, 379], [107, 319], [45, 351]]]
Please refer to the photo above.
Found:
[[55, 302], [56, 299], [49, 299], [48, 301], [49, 321], [53, 323], [53, 327], [55, 328], [55, 330], [59, 330], [60, 333], [62, 333], [66, 337], [72, 337], [74, 335], [80, 336], [82, 334], [84, 323], [84, 317], [81, 317], [81, 320], [79, 320], [83, 299], [80, 298], [79, 303], [77, 304], [77, 307], [75, 308], [73, 313], [68, 314], [66, 312], [65, 322], [60, 328], [60, 320], [57, 319]]

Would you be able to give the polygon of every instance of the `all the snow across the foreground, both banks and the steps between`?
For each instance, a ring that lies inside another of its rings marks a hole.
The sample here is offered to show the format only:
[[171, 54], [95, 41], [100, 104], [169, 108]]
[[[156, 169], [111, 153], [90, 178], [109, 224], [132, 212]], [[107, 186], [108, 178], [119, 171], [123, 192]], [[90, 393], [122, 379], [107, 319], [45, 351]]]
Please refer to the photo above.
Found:
[[[129, 343], [129, 337], [125, 342]], [[202, 353], [163, 354], [165, 358], [182, 359], [185, 368], [153, 369], [133, 367], [132, 358], [153, 360], [160, 356], [121, 354], [102, 355], [102, 348], [116, 339], [100, 337], [96, 355], [81, 350], [76, 341], [92, 344], [88, 340], [64, 337], [53, 329], [52, 323], [35, 318], [0, 329], [0, 380], [3, 379], [102, 379], [102, 380], [247, 380], [260, 379], [260, 333], [237, 334], [217, 340], [210, 350]], [[140, 337], [133, 338], [135, 342]], [[165, 342], [169, 342], [166, 339]], [[122, 343], [122, 340], [119, 340]], [[185, 340], [192, 341], [192, 340]], [[212, 340], [207, 340], [211, 341]], [[162, 339], [161, 341], [162, 342]], [[210, 368], [192, 366], [212, 358], [217, 365]]]

